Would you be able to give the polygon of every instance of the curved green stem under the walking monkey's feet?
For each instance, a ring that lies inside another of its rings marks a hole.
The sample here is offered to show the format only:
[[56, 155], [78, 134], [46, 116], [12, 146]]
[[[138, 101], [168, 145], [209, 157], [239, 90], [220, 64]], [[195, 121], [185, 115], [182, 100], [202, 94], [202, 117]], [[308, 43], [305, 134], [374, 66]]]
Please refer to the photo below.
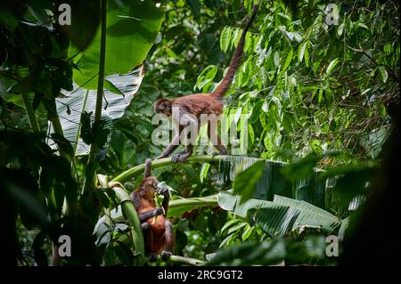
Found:
[[[187, 163], [197, 163], [197, 162], [217, 162], [219, 161], [221, 158], [223, 158], [224, 156], [207, 156], [207, 155], [203, 155], [203, 156], [192, 156], [186, 159]], [[152, 168], [158, 168], [158, 167], [162, 167], [162, 166], [168, 166], [173, 164], [171, 162], [171, 157], [169, 158], [160, 158], [160, 159], [156, 159], [151, 161], [151, 167]], [[119, 174], [118, 176], [116, 176], [115, 178], [113, 178], [111, 180], [111, 182], [119, 182], [119, 183], [126, 183], [129, 179], [131, 179], [132, 177], [134, 177], [136, 174], [143, 174], [143, 170], [144, 170], [144, 164], [142, 165], [138, 165], [138, 166], [134, 166], [130, 169], [128, 169], [127, 171]]]

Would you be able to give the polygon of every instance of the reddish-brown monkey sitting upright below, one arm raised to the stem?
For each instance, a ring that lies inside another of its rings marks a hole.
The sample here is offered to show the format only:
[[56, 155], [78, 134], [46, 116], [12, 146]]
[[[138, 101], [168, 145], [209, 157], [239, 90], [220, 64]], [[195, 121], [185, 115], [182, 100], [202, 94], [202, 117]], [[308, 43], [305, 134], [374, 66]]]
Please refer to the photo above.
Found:
[[[141, 221], [145, 251], [152, 261], [156, 260], [158, 254], [162, 259], [167, 259], [172, 255], [174, 247], [173, 228], [171, 222], [166, 218], [169, 201], [168, 188], [160, 185], [156, 177], [151, 176], [150, 158], [145, 160], [143, 175], [143, 181], [130, 197], [134, 201]], [[155, 192], [164, 196], [162, 207], [156, 206]], [[155, 216], [157, 216], [156, 220]]]

